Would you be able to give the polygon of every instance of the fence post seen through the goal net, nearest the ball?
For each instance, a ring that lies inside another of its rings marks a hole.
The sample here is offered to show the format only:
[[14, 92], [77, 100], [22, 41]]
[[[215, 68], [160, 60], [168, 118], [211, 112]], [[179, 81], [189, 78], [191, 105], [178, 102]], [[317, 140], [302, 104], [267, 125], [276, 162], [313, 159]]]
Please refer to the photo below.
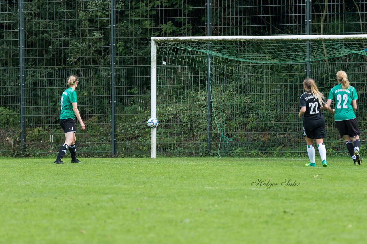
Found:
[[[212, 19], [211, 19], [211, 9], [212, 9], [212, 0], [207, 0], [206, 3], [207, 7], [207, 36], [212, 35]], [[211, 49], [211, 42], [208, 42], [208, 50]], [[212, 56], [210, 54], [207, 55], [207, 100], [208, 100], [208, 112], [207, 112], [207, 151], [211, 153], [212, 147], [212, 98], [211, 98], [211, 73], [212, 73], [212, 66], [211, 66]]]

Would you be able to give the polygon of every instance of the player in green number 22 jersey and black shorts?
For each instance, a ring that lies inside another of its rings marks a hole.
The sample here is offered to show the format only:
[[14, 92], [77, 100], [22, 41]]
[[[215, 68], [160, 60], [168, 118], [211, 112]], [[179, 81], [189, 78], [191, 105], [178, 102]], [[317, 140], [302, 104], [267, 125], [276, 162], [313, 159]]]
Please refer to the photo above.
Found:
[[[357, 110], [357, 91], [350, 86], [347, 75], [344, 71], [337, 72], [338, 85], [334, 86], [329, 93], [327, 105], [330, 112], [334, 113], [335, 124], [337, 125], [340, 136], [345, 139], [345, 145], [354, 164], [361, 164], [362, 159], [359, 154], [361, 134], [356, 118]], [[330, 108], [331, 102], [335, 102], [335, 109]]]

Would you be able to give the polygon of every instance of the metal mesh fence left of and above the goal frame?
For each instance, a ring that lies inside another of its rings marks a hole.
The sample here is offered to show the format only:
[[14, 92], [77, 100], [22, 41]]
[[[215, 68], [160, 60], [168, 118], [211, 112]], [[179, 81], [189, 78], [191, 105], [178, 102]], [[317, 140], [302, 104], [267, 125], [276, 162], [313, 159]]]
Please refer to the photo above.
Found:
[[148, 157], [151, 36], [365, 34], [366, 22], [354, 0], [2, 1], [0, 155], [56, 154], [75, 74], [79, 153]]

